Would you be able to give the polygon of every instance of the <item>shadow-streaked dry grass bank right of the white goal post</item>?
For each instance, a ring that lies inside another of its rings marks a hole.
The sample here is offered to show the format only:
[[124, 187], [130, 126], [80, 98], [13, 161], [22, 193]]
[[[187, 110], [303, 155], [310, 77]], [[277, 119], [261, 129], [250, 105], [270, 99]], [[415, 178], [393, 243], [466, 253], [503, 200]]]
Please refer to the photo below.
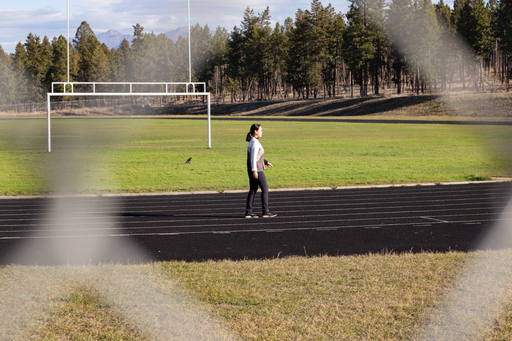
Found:
[[[512, 95], [457, 94], [225, 104], [215, 113], [242, 116], [512, 118]], [[199, 111], [198, 111], [199, 113]]]

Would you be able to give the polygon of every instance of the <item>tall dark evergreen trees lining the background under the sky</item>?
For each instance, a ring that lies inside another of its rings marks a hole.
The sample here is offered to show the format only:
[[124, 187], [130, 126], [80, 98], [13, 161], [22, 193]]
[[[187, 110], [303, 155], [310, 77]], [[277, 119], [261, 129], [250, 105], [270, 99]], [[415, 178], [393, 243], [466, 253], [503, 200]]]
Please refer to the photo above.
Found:
[[[313, 0], [271, 25], [270, 10], [247, 8], [240, 27], [191, 28], [193, 81], [218, 101], [370, 96], [508, 87], [512, 0], [351, 0], [346, 14]], [[30, 33], [8, 55], [0, 47], [0, 104], [44, 102], [67, 80], [67, 41]], [[70, 80], [183, 82], [188, 41], [144, 32], [116, 49], [86, 21], [70, 42]], [[455, 88], [455, 85], [454, 85]]]

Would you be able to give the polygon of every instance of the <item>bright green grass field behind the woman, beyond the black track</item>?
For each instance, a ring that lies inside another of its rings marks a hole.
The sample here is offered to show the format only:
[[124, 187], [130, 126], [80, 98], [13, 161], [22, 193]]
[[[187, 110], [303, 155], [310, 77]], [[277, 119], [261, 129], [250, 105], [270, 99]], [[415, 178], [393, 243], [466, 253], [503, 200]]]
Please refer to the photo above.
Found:
[[[509, 176], [509, 126], [261, 122], [271, 188]], [[245, 189], [250, 122], [161, 119], [0, 121], [0, 195]], [[190, 165], [184, 162], [192, 156]]]

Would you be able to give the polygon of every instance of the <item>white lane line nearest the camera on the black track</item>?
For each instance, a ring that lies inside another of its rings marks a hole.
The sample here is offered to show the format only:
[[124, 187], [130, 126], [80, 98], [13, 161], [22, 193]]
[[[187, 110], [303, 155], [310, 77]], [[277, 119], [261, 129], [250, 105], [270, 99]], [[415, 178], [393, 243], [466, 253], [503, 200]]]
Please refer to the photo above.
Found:
[[[502, 221], [507, 219], [485, 219], [485, 220], [473, 220], [473, 221]], [[467, 221], [451, 221], [451, 224], [454, 223], [464, 223]], [[434, 222], [434, 224], [441, 224], [442, 222]], [[380, 227], [386, 226], [406, 226], [406, 225], [415, 225], [416, 222], [413, 223], [394, 223], [394, 224], [382, 224]], [[331, 226], [331, 229], [346, 229], [346, 228], [366, 228], [375, 225], [351, 225], [351, 226]], [[283, 232], [289, 231], [300, 231], [300, 230], [316, 230], [317, 228], [289, 228], [281, 230]], [[244, 229], [244, 230], [232, 230], [229, 233], [247, 233], [247, 232], [268, 232], [272, 231], [272, 229]], [[191, 234], [222, 234], [226, 233], [226, 231], [188, 231], [188, 232], [175, 232], [175, 233], [129, 233], [129, 234], [103, 234], [103, 235], [83, 235], [83, 236], [27, 236], [27, 237], [0, 237], [0, 239], [48, 239], [48, 238], [83, 238], [83, 237], [130, 237], [130, 236], [162, 236], [162, 235], [191, 235]]]

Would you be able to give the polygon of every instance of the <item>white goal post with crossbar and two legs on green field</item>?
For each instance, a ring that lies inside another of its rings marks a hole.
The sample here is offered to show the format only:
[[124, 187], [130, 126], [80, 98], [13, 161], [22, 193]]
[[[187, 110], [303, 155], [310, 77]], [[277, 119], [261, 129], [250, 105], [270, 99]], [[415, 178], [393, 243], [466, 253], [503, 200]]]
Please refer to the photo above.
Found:
[[[62, 92], [55, 92], [55, 85], [61, 85]], [[104, 88], [108, 86], [130, 87], [130, 92], [104, 92]], [[137, 91], [137, 87], [145, 86], [160, 86], [161, 92], [147, 92]], [[71, 86], [71, 90], [67, 91], [67, 87]], [[85, 86], [91, 88], [91, 91], [80, 90], [75, 92], [75, 86]], [[163, 87], [165, 86], [165, 89]], [[169, 89], [169, 86], [171, 89]], [[176, 87], [185, 88], [185, 92], [172, 91]], [[196, 87], [202, 88], [203, 92], [196, 92]], [[97, 92], [97, 88], [102, 88]], [[190, 89], [190, 91], [189, 91]], [[170, 91], [170, 92], [169, 92]], [[207, 98], [207, 113], [208, 113], [208, 148], [211, 149], [211, 129], [210, 129], [210, 93], [206, 92], [206, 83], [196, 82], [168, 82], [168, 83], [122, 83], [122, 82], [52, 82], [52, 92], [47, 93], [47, 111], [48, 111], [48, 152], [51, 152], [51, 128], [50, 128], [50, 99], [52, 96], [206, 96]]]

